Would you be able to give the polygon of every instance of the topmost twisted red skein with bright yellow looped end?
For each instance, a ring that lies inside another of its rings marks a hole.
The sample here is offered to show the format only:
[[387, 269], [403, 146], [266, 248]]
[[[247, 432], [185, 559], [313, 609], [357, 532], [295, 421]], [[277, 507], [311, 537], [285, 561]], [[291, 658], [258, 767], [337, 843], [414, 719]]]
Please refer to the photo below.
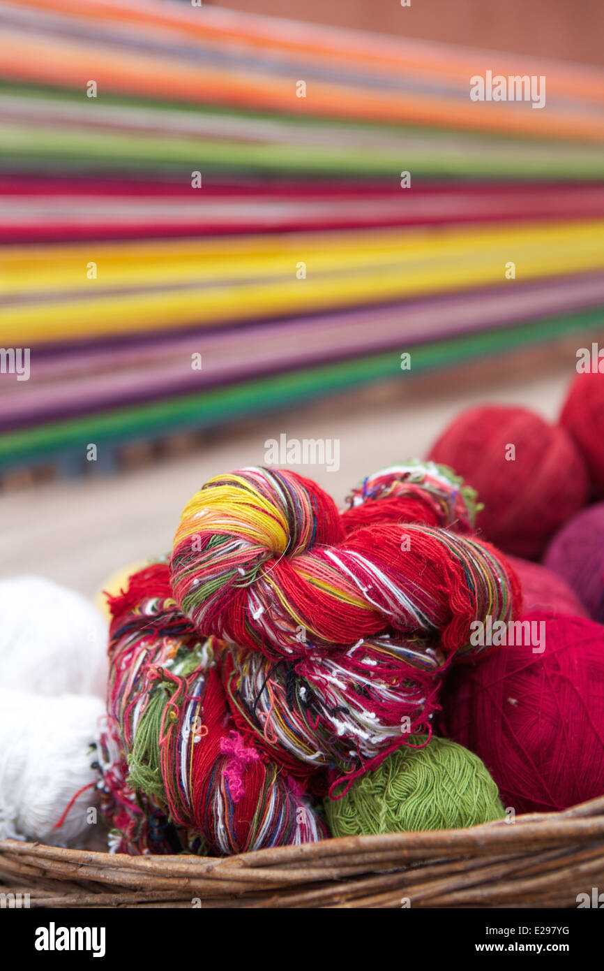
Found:
[[470, 657], [471, 622], [511, 617], [521, 594], [489, 544], [418, 523], [378, 522], [345, 537], [319, 485], [263, 468], [216, 476], [187, 503], [171, 578], [200, 634], [275, 659], [393, 630]]

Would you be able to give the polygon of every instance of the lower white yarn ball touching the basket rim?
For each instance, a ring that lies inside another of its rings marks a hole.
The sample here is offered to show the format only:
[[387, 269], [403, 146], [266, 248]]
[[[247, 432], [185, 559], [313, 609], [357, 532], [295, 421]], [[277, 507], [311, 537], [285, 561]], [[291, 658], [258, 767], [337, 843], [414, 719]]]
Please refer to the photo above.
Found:
[[91, 695], [0, 688], [0, 839], [68, 846], [90, 834], [93, 788], [79, 795], [59, 829], [53, 826], [76, 792], [99, 780], [90, 745], [104, 715], [105, 705]]

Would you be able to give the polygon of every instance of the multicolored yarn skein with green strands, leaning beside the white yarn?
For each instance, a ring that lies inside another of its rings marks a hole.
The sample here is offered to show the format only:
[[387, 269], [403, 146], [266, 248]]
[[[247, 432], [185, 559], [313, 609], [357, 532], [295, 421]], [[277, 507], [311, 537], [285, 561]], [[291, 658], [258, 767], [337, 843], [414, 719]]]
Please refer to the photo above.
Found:
[[244, 743], [217, 645], [177, 610], [169, 571], [135, 574], [111, 600], [104, 811], [130, 853], [234, 854], [321, 839], [299, 783]]

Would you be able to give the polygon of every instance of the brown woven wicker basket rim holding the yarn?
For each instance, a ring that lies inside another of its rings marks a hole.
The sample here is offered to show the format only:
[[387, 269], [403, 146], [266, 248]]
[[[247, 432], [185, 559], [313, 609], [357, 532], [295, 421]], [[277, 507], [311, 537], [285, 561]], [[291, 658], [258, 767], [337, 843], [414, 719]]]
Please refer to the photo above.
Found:
[[0, 841], [30, 907], [577, 907], [604, 883], [604, 798], [471, 829], [351, 836], [224, 858]]

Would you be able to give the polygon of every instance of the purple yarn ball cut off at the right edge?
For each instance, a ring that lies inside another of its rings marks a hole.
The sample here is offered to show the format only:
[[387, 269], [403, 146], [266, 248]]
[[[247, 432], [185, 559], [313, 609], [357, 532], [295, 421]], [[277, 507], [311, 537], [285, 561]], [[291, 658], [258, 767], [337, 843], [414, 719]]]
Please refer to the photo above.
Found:
[[604, 502], [565, 522], [543, 562], [573, 588], [589, 617], [604, 623]]

